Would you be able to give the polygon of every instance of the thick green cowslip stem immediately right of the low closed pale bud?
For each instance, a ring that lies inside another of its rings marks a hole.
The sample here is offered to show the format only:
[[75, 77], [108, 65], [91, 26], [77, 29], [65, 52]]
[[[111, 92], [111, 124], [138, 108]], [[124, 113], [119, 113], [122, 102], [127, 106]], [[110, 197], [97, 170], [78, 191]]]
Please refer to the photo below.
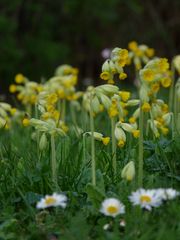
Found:
[[141, 108], [142, 104], [140, 105], [140, 116], [139, 116], [139, 156], [138, 156], [138, 187], [142, 187], [143, 185], [143, 122], [144, 122], [144, 113]]

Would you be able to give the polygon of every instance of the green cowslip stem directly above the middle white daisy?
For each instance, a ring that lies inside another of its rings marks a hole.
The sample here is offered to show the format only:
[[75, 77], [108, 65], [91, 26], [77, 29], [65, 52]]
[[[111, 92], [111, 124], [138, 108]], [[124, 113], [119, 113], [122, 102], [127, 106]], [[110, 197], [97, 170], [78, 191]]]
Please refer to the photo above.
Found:
[[114, 176], [117, 174], [117, 159], [116, 159], [116, 139], [115, 139], [115, 118], [111, 118], [111, 138], [112, 138], [112, 164], [114, 170]]

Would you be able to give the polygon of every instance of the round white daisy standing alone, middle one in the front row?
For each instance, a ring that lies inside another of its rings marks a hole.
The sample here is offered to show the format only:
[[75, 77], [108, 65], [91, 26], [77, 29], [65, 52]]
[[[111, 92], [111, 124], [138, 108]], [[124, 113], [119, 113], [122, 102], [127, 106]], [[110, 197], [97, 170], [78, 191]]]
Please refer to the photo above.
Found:
[[116, 217], [125, 213], [125, 206], [116, 198], [107, 198], [102, 202], [100, 212], [106, 216]]

